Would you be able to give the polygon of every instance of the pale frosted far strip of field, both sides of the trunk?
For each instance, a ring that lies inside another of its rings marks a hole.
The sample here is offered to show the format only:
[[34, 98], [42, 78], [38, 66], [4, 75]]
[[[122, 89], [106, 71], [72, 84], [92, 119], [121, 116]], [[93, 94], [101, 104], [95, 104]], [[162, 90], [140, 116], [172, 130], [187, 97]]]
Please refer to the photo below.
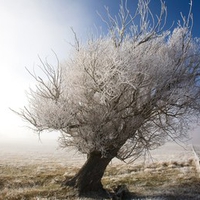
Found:
[[[200, 147], [195, 146], [197, 154], [200, 153]], [[85, 161], [85, 156], [72, 149], [60, 149], [57, 141], [0, 141], [0, 163], [3, 164], [34, 164], [56, 162], [63, 165], [81, 165]], [[192, 145], [176, 143], [167, 143], [160, 148], [151, 151], [147, 155], [145, 162], [169, 162], [169, 161], [186, 161], [194, 158]], [[112, 163], [120, 161], [113, 160]], [[144, 162], [143, 158], [136, 161]]]

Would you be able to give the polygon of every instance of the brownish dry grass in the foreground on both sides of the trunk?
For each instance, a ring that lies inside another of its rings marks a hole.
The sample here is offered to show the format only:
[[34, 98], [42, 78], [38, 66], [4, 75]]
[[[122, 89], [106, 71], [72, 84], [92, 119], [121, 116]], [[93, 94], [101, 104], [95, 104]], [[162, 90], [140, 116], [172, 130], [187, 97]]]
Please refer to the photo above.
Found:
[[[78, 168], [62, 165], [0, 165], [0, 199], [54, 200], [80, 199], [72, 188], [61, 188], [64, 176], [72, 177]], [[118, 185], [127, 185], [133, 196], [200, 198], [200, 179], [193, 160], [143, 165], [110, 165], [103, 180], [112, 191]], [[82, 198], [84, 199], [84, 198]], [[133, 198], [134, 199], [134, 198]], [[147, 199], [147, 198], [146, 198]], [[157, 198], [158, 199], [158, 198]], [[161, 198], [160, 198], [161, 199]], [[178, 198], [175, 198], [178, 199]]]

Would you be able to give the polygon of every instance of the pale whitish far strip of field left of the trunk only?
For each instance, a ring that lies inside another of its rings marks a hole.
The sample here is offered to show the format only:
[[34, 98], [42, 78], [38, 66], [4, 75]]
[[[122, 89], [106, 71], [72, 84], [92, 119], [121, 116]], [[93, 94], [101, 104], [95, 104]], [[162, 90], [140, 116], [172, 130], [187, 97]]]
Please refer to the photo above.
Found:
[[63, 165], [77, 165], [84, 162], [84, 156], [71, 149], [60, 149], [52, 140], [0, 142], [0, 163], [27, 165], [55, 162]]

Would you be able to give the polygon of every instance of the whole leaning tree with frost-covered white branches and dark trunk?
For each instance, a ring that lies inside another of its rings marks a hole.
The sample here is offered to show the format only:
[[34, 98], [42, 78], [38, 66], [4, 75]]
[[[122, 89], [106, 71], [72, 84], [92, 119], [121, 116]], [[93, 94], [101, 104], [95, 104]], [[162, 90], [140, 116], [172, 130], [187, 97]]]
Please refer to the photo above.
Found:
[[139, 0], [131, 15], [122, 2], [118, 17], [107, 10], [108, 35], [83, 45], [75, 37], [70, 59], [57, 67], [42, 62], [46, 78], [32, 73], [36, 88], [18, 114], [39, 132], [59, 130], [63, 147], [87, 154], [63, 183], [80, 193], [103, 190], [114, 157], [134, 160], [184, 138], [199, 116], [200, 43], [191, 35], [191, 11], [166, 30], [164, 3], [159, 16], [148, 5]]

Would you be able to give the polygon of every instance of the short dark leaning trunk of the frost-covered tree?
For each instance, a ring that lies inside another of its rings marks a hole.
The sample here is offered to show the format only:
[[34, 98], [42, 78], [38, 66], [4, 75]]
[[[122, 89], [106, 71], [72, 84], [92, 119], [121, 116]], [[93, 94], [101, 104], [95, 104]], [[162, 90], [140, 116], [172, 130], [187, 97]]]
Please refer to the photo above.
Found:
[[113, 157], [104, 158], [100, 152], [92, 152], [80, 171], [71, 180], [65, 180], [63, 185], [77, 188], [80, 195], [105, 192], [101, 178]]

